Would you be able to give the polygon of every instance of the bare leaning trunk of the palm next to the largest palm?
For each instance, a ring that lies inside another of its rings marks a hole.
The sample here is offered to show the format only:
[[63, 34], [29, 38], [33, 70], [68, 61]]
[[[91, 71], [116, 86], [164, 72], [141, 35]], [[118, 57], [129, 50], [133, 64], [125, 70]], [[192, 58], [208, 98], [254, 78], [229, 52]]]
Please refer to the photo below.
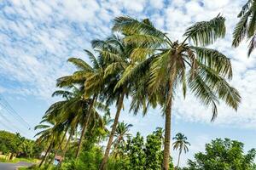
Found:
[[104, 157], [103, 157], [103, 160], [102, 160], [102, 164], [101, 164], [100, 170], [104, 170], [105, 169], [106, 163], [108, 161], [108, 155], [109, 155], [109, 151], [110, 151], [110, 148], [111, 148], [111, 144], [113, 142], [113, 135], [115, 133], [117, 124], [119, 122], [119, 115], [120, 115], [120, 112], [122, 110], [124, 97], [125, 97], [125, 91], [121, 94], [121, 96], [119, 98], [119, 101], [118, 101], [117, 111], [116, 111], [116, 114], [115, 114], [115, 117], [114, 117], [112, 130], [111, 130], [111, 133], [110, 133], [110, 136], [109, 136], [109, 139], [108, 139], [107, 148], [105, 150], [105, 154], [104, 154]]

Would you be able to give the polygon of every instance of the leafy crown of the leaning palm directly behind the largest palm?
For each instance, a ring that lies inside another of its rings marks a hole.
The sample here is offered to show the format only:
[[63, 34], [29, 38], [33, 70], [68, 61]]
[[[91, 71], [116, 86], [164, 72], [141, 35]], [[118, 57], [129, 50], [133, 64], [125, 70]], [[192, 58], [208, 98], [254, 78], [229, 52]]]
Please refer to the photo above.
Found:
[[128, 83], [119, 86], [117, 82], [124, 73], [125, 69], [131, 65], [129, 60], [129, 50], [125, 47], [123, 39], [112, 35], [105, 40], [96, 39], [91, 42], [94, 50], [99, 53], [100, 58], [105, 63], [104, 68], [104, 89], [102, 89], [102, 96], [107, 100], [107, 104], [111, 105], [113, 101], [118, 101], [120, 94], [128, 95], [128, 88], [131, 87]]

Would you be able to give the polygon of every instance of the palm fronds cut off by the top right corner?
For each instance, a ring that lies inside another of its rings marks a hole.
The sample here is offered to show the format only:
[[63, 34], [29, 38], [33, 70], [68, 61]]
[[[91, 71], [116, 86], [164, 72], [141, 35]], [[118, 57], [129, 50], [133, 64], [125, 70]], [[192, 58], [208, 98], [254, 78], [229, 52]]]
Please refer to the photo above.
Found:
[[236, 24], [233, 32], [233, 47], [238, 47], [241, 41], [247, 37], [251, 39], [248, 46], [248, 57], [252, 54], [253, 49], [256, 47], [256, 1], [248, 0], [247, 3], [241, 8], [241, 12], [237, 15], [240, 18]]

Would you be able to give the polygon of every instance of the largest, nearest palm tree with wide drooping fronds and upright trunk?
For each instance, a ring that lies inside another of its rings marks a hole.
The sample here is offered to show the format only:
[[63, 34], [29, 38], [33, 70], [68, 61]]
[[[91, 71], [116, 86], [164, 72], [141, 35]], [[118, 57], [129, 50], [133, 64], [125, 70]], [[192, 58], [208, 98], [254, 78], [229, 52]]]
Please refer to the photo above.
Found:
[[144, 87], [148, 90], [148, 99], [153, 97], [166, 116], [165, 170], [169, 168], [172, 105], [179, 85], [182, 86], [183, 97], [190, 88], [201, 104], [212, 106], [212, 121], [218, 114], [219, 99], [235, 110], [241, 101], [236, 88], [226, 82], [232, 78], [230, 59], [215, 49], [205, 47], [224, 37], [224, 20], [218, 15], [212, 20], [195, 23], [185, 31], [181, 42], [172, 41], [149, 20], [139, 21], [123, 16], [114, 20], [113, 31], [124, 34], [126, 44], [137, 46], [131, 59], [141, 61], [122, 75], [119, 84], [131, 81], [131, 77], [142, 79], [144, 73], [148, 79], [147, 87]]

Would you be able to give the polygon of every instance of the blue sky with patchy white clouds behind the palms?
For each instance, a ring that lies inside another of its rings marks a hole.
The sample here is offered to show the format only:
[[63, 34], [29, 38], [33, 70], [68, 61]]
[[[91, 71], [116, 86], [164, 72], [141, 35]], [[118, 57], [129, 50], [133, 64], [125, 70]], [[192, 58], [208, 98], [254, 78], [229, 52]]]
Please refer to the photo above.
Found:
[[[211, 111], [188, 94], [180, 93], [172, 111], [172, 137], [184, 133], [191, 144], [183, 156], [182, 166], [203, 151], [207, 142], [216, 138], [240, 140], [245, 151], [256, 146], [256, 52], [247, 58], [247, 42], [231, 48], [232, 31], [244, 0], [13, 0], [0, 3], [0, 129], [19, 132], [33, 138], [36, 126], [55, 91], [55, 80], [71, 74], [75, 68], [69, 57], [86, 61], [83, 49], [91, 49], [90, 41], [108, 37], [114, 17], [129, 15], [138, 20], [149, 18], [172, 40], [183, 40], [183, 32], [197, 21], [211, 20], [218, 14], [226, 19], [226, 37], [210, 48], [217, 48], [232, 62], [234, 77], [230, 82], [241, 94], [238, 111], [223, 104], [218, 117], [210, 122]], [[6, 102], [9, 106], [6, 106]], [[164, 126], [160, 109], [150, 109], [147, 116], [133, 116], [126, 110], [120, 120], [133, 124], [131, 133], [143, 136]], [[13, 108], [6, 111], [6, 107]], [[112, 112], [114, 108], [112, 107]], [[17, 116], [20, 115], [22, 119]], [[30, 128], [30, 130], [29, 130]], [[177, 163], [177, 152], [172, 153]]]

